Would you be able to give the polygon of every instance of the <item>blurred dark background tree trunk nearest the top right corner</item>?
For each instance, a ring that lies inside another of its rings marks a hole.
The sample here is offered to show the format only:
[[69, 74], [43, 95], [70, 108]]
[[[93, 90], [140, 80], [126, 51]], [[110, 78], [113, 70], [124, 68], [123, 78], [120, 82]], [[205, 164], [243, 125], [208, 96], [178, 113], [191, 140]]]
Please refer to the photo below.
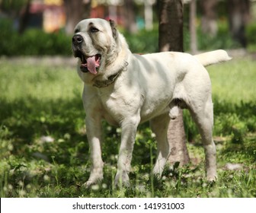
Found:
[[245, 27], [250, 16], [250, 1], [228, 0], [227, 4], [229, 9], [229, 29], [232, 37], [241, 43], [243, 47], [246, 47]]

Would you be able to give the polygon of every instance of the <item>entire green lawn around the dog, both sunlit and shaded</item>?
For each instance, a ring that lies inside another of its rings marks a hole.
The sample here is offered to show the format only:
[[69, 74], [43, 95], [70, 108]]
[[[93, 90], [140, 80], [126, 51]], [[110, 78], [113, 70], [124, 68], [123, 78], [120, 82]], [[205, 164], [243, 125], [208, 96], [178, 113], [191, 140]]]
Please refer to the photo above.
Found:
[[[209, 68], [213, 83], [219, 180], [207, 183], [203, 148], [184, 112], [191, 163], [151, 176], [155, 138], [139, 127], [131, 186], [114, 188], [120, 129], [104, 125], [104, 181], [85, 189], [88, 141], [82, 83], [75, 68], [46, 63], [0, 61], [1, 197], [255, 197], [256, 93], [251, 59]], [[230, 170], [227, 163], [238, 166]]]

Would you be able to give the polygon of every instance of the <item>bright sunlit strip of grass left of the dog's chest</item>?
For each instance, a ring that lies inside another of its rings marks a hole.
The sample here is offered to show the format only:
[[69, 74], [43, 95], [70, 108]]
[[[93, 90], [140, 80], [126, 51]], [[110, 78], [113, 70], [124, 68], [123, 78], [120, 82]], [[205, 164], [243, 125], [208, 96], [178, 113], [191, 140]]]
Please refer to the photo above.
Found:
[[1, 97], [8, 100], [26, 97], [41, 100], [69, 99], [74, 93], [82, 94], [82, 82], [75, 67], [47, 64], [17, 64], [0, 61]]

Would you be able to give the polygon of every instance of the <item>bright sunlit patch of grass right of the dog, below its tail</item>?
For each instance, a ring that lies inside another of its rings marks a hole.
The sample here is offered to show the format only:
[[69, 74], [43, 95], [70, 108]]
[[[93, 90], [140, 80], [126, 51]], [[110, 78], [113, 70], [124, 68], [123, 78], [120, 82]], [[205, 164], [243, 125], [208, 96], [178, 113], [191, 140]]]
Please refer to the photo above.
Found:
[[213, 87], [213, 99], [240, 103], [256, 103], [256, 61], [252, 59], [232, 59], [207, 68]]

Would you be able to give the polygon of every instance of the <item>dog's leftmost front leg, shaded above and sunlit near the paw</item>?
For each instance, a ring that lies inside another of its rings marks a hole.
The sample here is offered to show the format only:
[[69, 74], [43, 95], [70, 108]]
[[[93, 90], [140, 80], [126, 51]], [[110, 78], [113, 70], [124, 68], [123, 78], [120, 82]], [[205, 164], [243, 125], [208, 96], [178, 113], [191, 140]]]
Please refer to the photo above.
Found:
[[85, 183], [85, 186], [88, 187], [103, 179], [104, 163], [101, 158], [101, 119], [87, 116], [85, 123], [91, 151], [91, 173], [89, 180]]

